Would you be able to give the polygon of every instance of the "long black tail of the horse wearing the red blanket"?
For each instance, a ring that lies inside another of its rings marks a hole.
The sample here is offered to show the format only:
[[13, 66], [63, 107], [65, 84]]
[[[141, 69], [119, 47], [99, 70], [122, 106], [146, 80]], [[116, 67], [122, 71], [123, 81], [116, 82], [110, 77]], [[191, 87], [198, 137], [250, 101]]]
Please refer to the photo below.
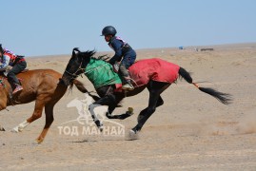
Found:
[[213, 88], [209, 88], [209, 87], [200, 87], [196, 83], [193, 83], [193, 79], [191, 78], [191, 76], [187, 72], [187, 70], [185, 70], [185, 68], [180, 67], [179, 74], [180, 74], [180, 76], [182, 76], [182, 78], [184, 78], [187, 81], [187, 83], [195, 85], [199, 90], [213, 96], [218, 101], [220, 101], [222, 104], [231, 104], [232, 99], [231, 99], [230, 94], [219, 92], [219, 91], [217, 91]]

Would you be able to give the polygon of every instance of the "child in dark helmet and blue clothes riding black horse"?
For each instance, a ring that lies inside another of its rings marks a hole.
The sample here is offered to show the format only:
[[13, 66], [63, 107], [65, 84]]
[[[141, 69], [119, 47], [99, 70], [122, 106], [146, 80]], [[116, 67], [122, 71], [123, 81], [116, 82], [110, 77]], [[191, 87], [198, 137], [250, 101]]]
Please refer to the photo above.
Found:
[[131, 84], [128, 67], [135, 62], [136, 52], [122, 38], [115, 36], [116, 33], [116, 29], [111, 26], [105, 27], [102, 30], [102, 36], [105, 36], [108, 46], [115, 51], [115, 54], [109, 60], [109, 63], [114, 65], [116, 62], [121, 61], [119, 74], [123, 77], [123, 81], [125, 82], [122, 88], [132, 90], [134, 87]]

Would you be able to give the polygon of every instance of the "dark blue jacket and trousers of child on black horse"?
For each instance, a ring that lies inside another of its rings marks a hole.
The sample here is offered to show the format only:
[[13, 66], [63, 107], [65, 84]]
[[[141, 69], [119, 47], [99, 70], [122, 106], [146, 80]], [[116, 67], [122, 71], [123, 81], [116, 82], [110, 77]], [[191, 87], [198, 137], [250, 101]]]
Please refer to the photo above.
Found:
[[112, 37], [108, 46], [115, 51], [114, 56], [109, 60], [111, 65], [116, 61], [120, 62], [122, 60], [121, 63], [128, 68], [128, 66], [131, 66], [135, 62], [136, 52], [120, 37]]

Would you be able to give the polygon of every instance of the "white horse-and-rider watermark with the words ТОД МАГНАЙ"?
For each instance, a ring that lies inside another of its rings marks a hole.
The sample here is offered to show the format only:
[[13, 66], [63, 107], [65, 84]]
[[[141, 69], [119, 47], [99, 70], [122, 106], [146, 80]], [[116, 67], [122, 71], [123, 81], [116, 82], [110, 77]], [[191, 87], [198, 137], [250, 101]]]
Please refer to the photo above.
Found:
[[[75, 120], [71, 120], [65, 123], [61, 123], [58, 126], [59, 133], [70, 136], [79, 135], [104, 135], [104, 136], [125, 136], [125, 126], [121, 123], [116, 123], [108, 120], [106, 113], [108, 112], [108, 106], [95, 107], [95, 114], [102, 123], [108, 123], [103, 126], [102, 130], [93, 122], [91, 114], [89, 112], [89, 104], [93, 103], [93, 99], [88, 93], [85, 93], [85, 99], [75, 98], [67, 104], [67, 107], [76, 107], [78, 117]], [[69, 125], [69, 123], [77, 122], [80, 126]], [[82, 128], [81, 128], [82, 125]]]

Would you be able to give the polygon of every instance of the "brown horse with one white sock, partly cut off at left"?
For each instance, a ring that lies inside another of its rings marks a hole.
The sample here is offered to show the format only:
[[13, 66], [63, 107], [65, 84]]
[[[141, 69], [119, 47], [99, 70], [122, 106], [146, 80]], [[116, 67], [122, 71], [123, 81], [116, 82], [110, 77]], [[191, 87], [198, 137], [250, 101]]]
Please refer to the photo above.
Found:
[[[52, 69], [35, 69], [17, 75], [24, 89], [12, 95], [11, 87], [6, 77], [0, 75], [0, 111], [9, 105], [27, 104], [35, 101], [34, 111], [29, 119], [18, 124], [12, 129], [14, 132], [21, 132], [29, 123], [42, 116], [43, 108], [46, 113], [46, 123], [43, 131], [36, 139], [36, 142], [43, 142], [50, 124], [53, 122], [53, 107], [63, 97], [68, 89], [67, 85], [59, 84], [62, 77], [57, 71]], [[88, 92], [84, 85], [74, 80], [71, 84], [81, 92]], [[0, 126], [2, 130], [4, 128]]]

